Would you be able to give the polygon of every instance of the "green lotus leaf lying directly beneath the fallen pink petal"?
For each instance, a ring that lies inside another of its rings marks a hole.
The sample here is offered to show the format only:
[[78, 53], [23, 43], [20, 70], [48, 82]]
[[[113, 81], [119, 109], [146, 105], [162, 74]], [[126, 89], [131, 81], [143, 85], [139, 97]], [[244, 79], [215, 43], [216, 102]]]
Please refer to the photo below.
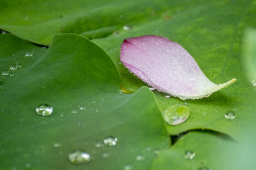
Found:
[[[119, 34], [93, 41], [110, 54], [124, 86], [133, 92], [146, 84], [120, 63], [120, 44], [125, 38], [144, 34], [162, 35], [180, 43], [216, 84], [237, 78], [237, 82], [228, 88], [200, 100], [182, 101], [176, 97], [165, 98], [164, 93], [154, 93], [162, 111], [174, 104], [186, 104], [191, 110], [191, 116], [185, 123], [168, 126], [170, 134], [203, 128], [223, 132], [242, 141], [248, 135], [245, 133], [247, 125], [254, 125], [256, 117], [255, 87], [248, 81], [241, 62], [243, 30], [247, 26], [256, 26], [255, 4], [255, 0], [189, 1], [132, 21], [128, 23], [132, 26], [129, 30], [120, 29]], [[236, 112], [236, 119], [224, 118], [228, 110]]]

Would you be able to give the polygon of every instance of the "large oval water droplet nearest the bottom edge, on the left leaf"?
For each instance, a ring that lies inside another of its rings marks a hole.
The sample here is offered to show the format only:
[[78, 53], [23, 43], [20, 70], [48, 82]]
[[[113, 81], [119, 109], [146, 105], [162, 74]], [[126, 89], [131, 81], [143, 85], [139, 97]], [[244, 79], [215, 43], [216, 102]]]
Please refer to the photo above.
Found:
[[68, 160], [76, 165], [85, 164], [91, 160], [91, 155], [82, 150], [76, 150], [68, 154]]

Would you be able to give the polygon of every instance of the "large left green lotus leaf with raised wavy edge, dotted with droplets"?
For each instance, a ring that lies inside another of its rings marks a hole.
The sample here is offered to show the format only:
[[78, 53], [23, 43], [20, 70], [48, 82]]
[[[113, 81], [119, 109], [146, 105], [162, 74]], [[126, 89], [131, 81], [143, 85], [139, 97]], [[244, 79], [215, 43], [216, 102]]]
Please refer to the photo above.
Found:
[[[27, 50], [34, 57], [25, 57]], [[90, 40], [56, 35], [49, 49], [42, 49], [0, 34], [0, 59], [1, 69], [10, 71], [18, 61], [22, 65], [14, 76], [0, 75], [2, 170], [118, 170], [126, 165], [146, 170], [155, 150], [169, 146], [153, 93], [147, 87], [120, 93], [116, 66]], [[51, 115], [37, 115], [42, 103], [53, 106]], [[94, 146], [106, 136], [117, 137], [117, 144]], [[91, 154], [87, 164], [68, 161], [68, 153], [77, 149]], [[144, 160], [137, 161], [138, 155]]]

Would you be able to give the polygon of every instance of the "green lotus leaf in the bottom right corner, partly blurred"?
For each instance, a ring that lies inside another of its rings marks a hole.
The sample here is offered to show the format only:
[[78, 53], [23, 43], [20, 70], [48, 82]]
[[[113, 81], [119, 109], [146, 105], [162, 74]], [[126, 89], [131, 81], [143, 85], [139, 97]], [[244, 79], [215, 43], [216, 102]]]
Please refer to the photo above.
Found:
[[[151, 170], [254, 170], [256, 153], [252, 147], [223, 134], [194, 131], [172, 148], [161, 151]], [[194, 157], [186, 155], [187, 151], [195, 153]]]

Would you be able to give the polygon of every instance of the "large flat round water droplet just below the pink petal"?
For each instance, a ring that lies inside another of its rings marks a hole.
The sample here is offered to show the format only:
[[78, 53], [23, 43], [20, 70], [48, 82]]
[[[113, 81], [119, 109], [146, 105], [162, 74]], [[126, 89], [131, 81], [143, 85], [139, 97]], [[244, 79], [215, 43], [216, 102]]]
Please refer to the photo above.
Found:
[[190, 109], [181, 104], [176, 104], [167, 108], [164, 112], [165, 121], [169, 125], [179, 125], [186, 121], [190, 116]]

